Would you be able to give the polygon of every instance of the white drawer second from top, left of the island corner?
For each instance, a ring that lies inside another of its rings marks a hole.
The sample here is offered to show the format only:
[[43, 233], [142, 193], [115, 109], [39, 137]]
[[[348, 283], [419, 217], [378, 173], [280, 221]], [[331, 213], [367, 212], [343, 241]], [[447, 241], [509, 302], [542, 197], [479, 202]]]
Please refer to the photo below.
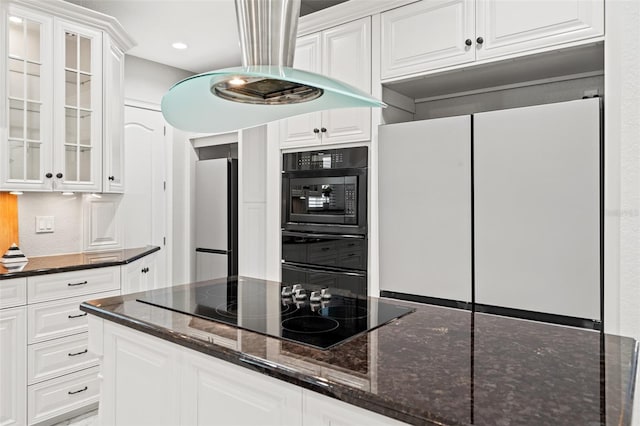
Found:
[[87, 315], [80, 310], [80, 303], [85, 300], [117, 295], [118, 292], [107, 292], [29, 305], [27, 308], [29, 343], [87, 331]]

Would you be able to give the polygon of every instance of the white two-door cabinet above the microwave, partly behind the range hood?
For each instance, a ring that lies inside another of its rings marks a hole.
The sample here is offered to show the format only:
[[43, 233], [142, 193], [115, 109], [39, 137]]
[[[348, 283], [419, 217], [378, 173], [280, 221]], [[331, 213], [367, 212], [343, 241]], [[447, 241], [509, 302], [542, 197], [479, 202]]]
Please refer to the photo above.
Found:
[[[300, 55], [300, 56], [298, 56]], [[371, 92], [371, 19], [352, 21], [301, 37], [294, 67]], [[368, 141], [371, 109], [347, 108], [282, 120], [282, 148]]]

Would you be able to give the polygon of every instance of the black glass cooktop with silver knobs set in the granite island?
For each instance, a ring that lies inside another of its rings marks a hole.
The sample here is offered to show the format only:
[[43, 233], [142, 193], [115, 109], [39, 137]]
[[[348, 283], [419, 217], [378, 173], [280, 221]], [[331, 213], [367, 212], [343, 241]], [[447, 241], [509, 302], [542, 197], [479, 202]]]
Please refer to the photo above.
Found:
[[281, 286], [274, 282], [236, 277], [220, 281], [154, 290], [137, 300], [318, 349], [329, 349], [415, 311], [375, 298], [341, 295], [312, 303], [309, 297], [302, 301], [283, 297]]

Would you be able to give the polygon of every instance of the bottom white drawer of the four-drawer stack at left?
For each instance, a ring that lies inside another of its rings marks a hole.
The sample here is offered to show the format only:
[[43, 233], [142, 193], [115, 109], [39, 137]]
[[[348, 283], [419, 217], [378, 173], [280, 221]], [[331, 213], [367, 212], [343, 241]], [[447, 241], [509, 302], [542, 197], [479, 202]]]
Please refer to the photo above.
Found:
[[57, 379], [29, 386], [29, 424], [98, 402], [98, 367], [91, 367]]

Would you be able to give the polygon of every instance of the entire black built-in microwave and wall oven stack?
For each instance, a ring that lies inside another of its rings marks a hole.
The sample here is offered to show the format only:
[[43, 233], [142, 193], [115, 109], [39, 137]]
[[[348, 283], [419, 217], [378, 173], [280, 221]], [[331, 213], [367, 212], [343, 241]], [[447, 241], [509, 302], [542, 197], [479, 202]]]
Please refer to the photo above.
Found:
[[283, 283], [366, 297], [367, 157], [367, 147], [283, 155]]

